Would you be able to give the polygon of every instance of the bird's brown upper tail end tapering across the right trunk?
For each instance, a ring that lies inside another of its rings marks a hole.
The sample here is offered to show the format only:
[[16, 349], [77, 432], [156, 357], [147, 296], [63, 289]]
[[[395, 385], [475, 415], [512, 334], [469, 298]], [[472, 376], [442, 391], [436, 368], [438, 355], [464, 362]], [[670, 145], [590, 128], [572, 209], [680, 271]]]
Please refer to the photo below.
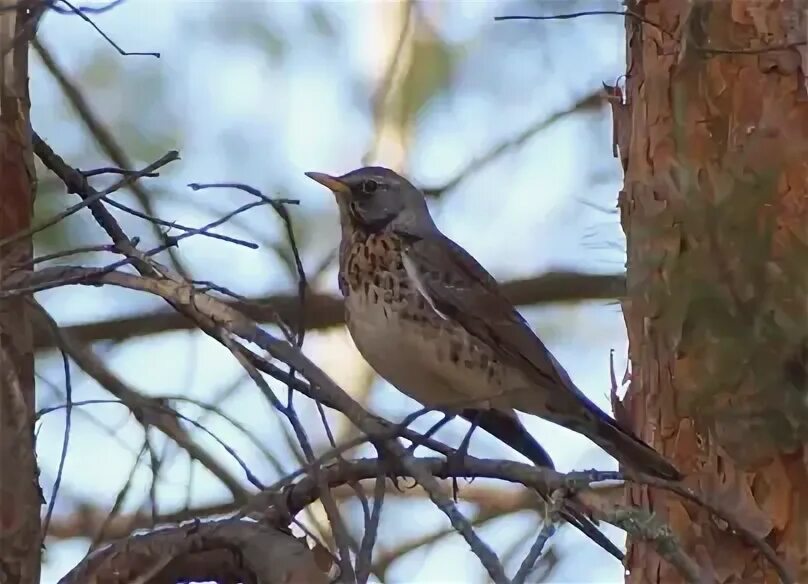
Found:
[[588, 406], [586, 428], [576, 427], [580, 426], [579, 422], [564, 425], [586, 435], [618, 462], [633, 470], [661, 479], [682, 480], [682, 474], [659, 452], [637, 438], [630, 430], [623, 428], [617, 420], [609, 417], [589, 400], [586, 400], [586, 405]]

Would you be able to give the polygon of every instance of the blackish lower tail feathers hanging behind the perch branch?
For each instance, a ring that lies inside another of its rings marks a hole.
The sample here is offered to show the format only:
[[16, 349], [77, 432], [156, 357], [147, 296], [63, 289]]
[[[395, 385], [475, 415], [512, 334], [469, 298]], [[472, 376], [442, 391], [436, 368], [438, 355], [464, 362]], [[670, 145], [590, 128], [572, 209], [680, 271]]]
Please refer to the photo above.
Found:
[[[530, 432], [527, 431], [515, 415], [498, 410], [463, 410], [461, 413], [467, 420], [475, 420], [483, 430], [498, 438], [511, 448], [528, 458], [536, 466], [555, 469], [553, 459], [539, 444]], [[544, 499], [546, 493], [539, 493]], [[606, 550], [609, 554], [623, 561], [624, 554], [612, 540], [606, 537], [582, 511], [565, 505], [561, 509], [561, 517], [569, 524], [574, 525], [585, 536]]]

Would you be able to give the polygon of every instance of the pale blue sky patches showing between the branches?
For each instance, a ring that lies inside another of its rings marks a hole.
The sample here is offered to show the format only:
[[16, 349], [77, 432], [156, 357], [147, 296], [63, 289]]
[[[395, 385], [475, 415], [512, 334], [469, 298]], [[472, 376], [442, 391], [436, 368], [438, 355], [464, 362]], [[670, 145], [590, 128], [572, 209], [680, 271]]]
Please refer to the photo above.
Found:
[[[159, 60], [120, 57], [75, 17], [48, 15], [40, 34], [71, 76], [89, 79], [83, 84], [85, 93], [112, 132], [137, 135], [140, 142], [151, 145], [151, 150], [141, 149], [144, 154], [140, 157], [133, 153], [138, 164], [171, 148], [181, 150], [180, 162], [147, 183], [160, 195], [157, 208], [162, 217], [203, 224], [214, 217], [211, 209], [221, 212], [246, 200], [227, 191], [192, 193], [184, 186], [189, 182], [238, 181], [268, 194], [300, 198], [302, 208], [293, 212], [314, 225], [307, 237], [312, 243], [304, 254], [311, 269], [336, 244], [338, 232], [332, 201], [302, 173], [341, 173], [360, 165], [373, 132], [369, 103], [375, 87], [366, 72], [366, 53], [374, 46], [368, 42], [367, 27], [380, 4], [322, 3], [333, 28], [329, 36], [311, 25], [307, 10], [313, 5], [309, 2], [227, 3], [234, 11], [249, 11], [256, 27], [265, 25], [274, 31], [282, 40], [282, 55], [269, 53], [269, 44], [256, 44], [255, 37], [243, 32], [244, 23], [228, 20], [224, 3], [213, 1], [128, 0], [95, 18], [124, 48], [160, 51]], [[566, 109], [602, 81], [614, 82], [624, 70], [624, 29], [619, 17], [530, 24], [492, 20], [496, 14], [552, 13], [603, 4], [457, 0], [423, 2], [422, 7], [437, 34], [454, 43], [458, 55], [450, 89], [426, 105], [413, 131], [407, 172], [423, 186], [453, 177], [492, 145], [534, 120]], [[222, 34], [224, 29], [229, 34]], [[99, 60], [105, 67], [93, 66]], [[150, 91], [155, 82], [164, 89]], [[57, 152], [86, 167], [108, 163], [64, 105], [36, 57], [31, 64], [31, 98], [34, 126]], [[376, 162], [385, 164], [384, 159]], [[615, 272], [622, 269], [624, 259], [618, 218], [595, 206], [613, 209], [620, 184], [619, 165], [611, 153], [611, 121], [608, 110], [603, 109], [567, 118], [535, 136], [447, 194], [435, 205], [434, 213], [450, 237], [501, 279], [553, 268]], [[128, 194], [116, 197], [132, 200]], [[74, 201], [63, 195], [62, 202]], [[124, 218], [123, 223], [130, 234], [149, 239], [142, 222]], [[76, 241], [105, 241], [87, 218], [71, 219], [70, 226]], [[261, 243], [283, 242], [278, 221], [264, 209], [245, 217], [242, 227], [228, 226], [222, 232], [246, 238], [257, 234]], [[184, 242], [181, 252], [195, 277], [213, 279], [242, 294], [289, 291], [293, 286], [288, 272], [268, 249], [251, 251], [199, 238]], [[333, 277], [323, 281], [322, 289], [336, 290]], [[96, 288], [51, 291], [39, 298], [62, 324], [160, 307], [158, 301], [143, 295]], [[616, 352], [618, 375], [625, 367], [626, 340], [619, 307], [598, 302], [535, 308], [525, 314], [575, 381], [601, 407], [608, 408], [610, 349]], [[325, 343], [318, 335], [310, 338], [307, 351], [317, 359]], [[226, 351], [197, 334], [137, 339], [104, 348], [102, 354], [108, 366], [145, 393], [210, 398], [241, 375]], [[38, 371], [63, 384], [55, 355], [43, 357]], [[74, 371], [75, 399], [107, 397], [75, 367]], [[52, 401], [43, 385], [40, 403]], [[371, 404], [390, 417], [401, 417], [415, 407], [381, 382], [374, 387]], [[242, 384], [225, 409], [266, 443], [278, 443], [279, 423], [249, 383]], [[301, 410], [306, 416], [311, 413], [305, 406]], [[59, 513], [69, 513], [79, 501], [109, 507], [140, 448], [140, 428], [122, 407], [95, 406], [91, 412], [114, 428], [120, 440], [76, 415]], [[189, 409], [186, 413], [198, 412]], [[61, 414], [52, 414], [39, 430], [38, 454], [46, 494], [58, 461], [63, 422]], [[526, 422], [560, 469], [614, 468], [613, 461], [586, 439], [540, 420], [526, 418]], [[315, 425], [315, 418], [310, 423]], [[277, 478], [260, 453], [226, 423], [211, 418], [206, 424], [265, 482]], [[417, 427], [426, 425], [424, 421]], [[453, 425], [441, 436], [459, 440], [464, 429], [463, 424]], [[325, 445], [322, 432], [313, 433], [313, 438], [319, 446]], [[210, 440], [199, 440], [221, 452]], [[293, 464], [285, 446], [277, 450], [281, 459]], [[482, 432], [475, 434], [471, 451], [518, 457]], [[238, 475], [237, 466], [224, 452], [221, 459]], [[166, 471], [158, 488], [161, 509], [170, 510], [185, 501], [187, 467], [187, 460], [180, 458]], [[149, 473], [143, 468], [127, 510], [142, 503], [148, 481]], [[226, 496], [217, 481], [204, 472], [196, 473], [194, 502], [219, 501]], [[401, 521], [404, 513], [406, 531]], [[445, 517], [428, 503], [391, 501], [385, 507], [381, 539], [400, 542], [445, 523]], [[535, 525], [532, 516], [516, 515], [481, 533], [503, 551], [519, 540], [529, 546]], [[82, 557], [86, 545], [86, 541], [49, 542], [43, 582], [56, 582]], [[622, 581], [621, 566], [578, 532], [562, 530], [554, 546], [561, 563], [552, 581]], [[460, 567], [463, 563], [465, 568]], [[390, 572], [394, 582], [479, 581], [482, 574], [459, 537], [447, 538], [431, 551], [410, 554]]]

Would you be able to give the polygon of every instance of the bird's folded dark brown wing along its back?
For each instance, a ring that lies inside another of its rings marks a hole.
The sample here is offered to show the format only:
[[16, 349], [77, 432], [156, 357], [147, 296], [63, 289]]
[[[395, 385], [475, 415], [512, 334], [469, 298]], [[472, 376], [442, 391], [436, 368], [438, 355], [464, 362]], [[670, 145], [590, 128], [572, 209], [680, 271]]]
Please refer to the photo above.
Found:
[[442, 234], [400, 234], [418, 288], [445, 318], [494, 348], [506, 362], [527, 365], [542, 386], [566, 386], [569, 375], [502, 294], [497, 281], [462, 247]]

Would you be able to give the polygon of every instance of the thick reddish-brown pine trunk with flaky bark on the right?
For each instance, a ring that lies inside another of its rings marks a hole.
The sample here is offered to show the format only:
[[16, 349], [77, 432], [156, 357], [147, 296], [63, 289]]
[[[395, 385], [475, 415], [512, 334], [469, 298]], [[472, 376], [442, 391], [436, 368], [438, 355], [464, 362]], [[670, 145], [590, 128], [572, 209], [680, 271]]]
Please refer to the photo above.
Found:
[[[625, 101], [614, 106], [625, 414], [808, 582], [806, 2], [628, 8], [672, 34], [628, 20]], [[716, 581], [778, 581], [703, 509], [645, 488], [627, 496]], [[630, 583], [681, 581], [643, 542], [630, 542], [627, 568]]]

